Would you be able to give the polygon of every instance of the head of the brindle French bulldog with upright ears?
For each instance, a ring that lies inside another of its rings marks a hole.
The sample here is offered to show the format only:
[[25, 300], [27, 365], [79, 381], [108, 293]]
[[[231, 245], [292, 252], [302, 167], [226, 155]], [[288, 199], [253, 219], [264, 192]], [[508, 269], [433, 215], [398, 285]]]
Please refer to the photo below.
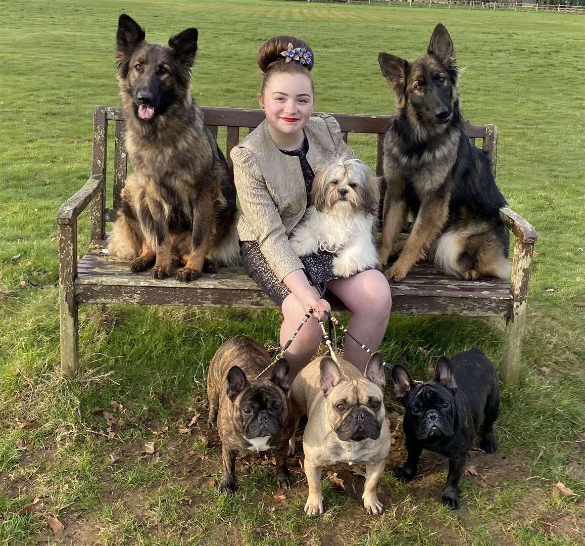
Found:
[[227, 394], [238, 411], [238, 428], [246, 439], [272, 438], [288, 417], [288, 362], [280, 359], [270, 379], [250, 379], [238, 366], [230, 368]]

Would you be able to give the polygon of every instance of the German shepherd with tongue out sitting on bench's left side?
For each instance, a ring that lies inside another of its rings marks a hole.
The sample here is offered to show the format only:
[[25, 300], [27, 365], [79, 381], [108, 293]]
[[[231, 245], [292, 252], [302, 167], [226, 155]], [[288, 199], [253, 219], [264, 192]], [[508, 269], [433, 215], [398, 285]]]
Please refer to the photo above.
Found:
[[[154, 279], [183, 265], [177, 279], [197, 279], [216, 262], [239, 260], [236, 188], [225, 157], [191, 98], [197, 29], [167, 46], [144, 40], [128, 15], [118, 21], [116, 59], [126, 149], [133, 173], [108, 242], [109, 252], [133, 260], [133, 272], [150, 266]], [[207, 260], [207, 262], [206, 262]]]

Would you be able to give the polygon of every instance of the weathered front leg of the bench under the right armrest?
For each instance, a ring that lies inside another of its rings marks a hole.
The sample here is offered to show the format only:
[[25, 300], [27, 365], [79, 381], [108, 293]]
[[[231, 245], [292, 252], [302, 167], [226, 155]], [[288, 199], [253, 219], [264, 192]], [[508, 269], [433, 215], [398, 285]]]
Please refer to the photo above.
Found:
[[506, 325], [506, 344], [502, 362], [504, 387], [515, 389], [518, 386], [520, 360], [522, 355], [522, 334], [526, 324], [526, 304], [528, 300], [528, 281], [534, 243], [516, 241], [510, 289], [513, 301], [510, 317]]

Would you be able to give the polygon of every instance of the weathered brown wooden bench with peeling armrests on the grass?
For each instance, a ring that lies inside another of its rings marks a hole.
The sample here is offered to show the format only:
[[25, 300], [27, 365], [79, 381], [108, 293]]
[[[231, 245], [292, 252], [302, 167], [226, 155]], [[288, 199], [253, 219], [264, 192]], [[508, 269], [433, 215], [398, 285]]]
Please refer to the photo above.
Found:
[[[239, 140], [264, 119], [260, 110], [202, 108], [205, 122], [217, 136], [226, 127], [226, 157]], [[388, 116], [333, 114], [343, 131], [377, 136], [377, 174], [382, 173], [384, 129]], [[106, 208], [106, 163], [108, 126], [115, 124], [113, 159], [113, 208]], [[240, 132], [240, 128], [247, 128]], [[219, 268], [202, 274], [191, 283], [174, 279], [152, 279], [148, 272], [132, 273], [129, 264], [102, 253], [107, 247], [106, 222], [116, 218], [120, 192], [126, 180], [128, 157], [123, 141], [121, 109], [95, 107], [92, 174], [57, 213], [59, 224], [59, 292], [61, 322], [61, 368], [73, 373], [78, 364], [78, 305], [139, 304], [194, 305], [199, 307], [274, 308], [242, 268]], [[466, 122], [466, 132], [490, 156], [495, 175], [497, 129], [494, 125], [474, 126]], [[78, 262], [77, 218], [91, 203], [90, 251]], [[393, 313], [502, 317], [507, 321], [507, 345], [501, 369], [504, 383], [517, 384], [522, 331], [535, 229], [508, 207], [500, 210], [504, 224], [515, 236], [511, 281], [498, 279], [461, 280], [446, 276], [428, 263], [411, 269], [400, 283], [391, 283]]]

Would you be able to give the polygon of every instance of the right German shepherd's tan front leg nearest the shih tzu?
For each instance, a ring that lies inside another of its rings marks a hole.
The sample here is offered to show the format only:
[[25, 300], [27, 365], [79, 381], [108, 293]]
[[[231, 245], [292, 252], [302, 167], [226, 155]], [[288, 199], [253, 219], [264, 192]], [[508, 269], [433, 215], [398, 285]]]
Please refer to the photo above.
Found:
[[408, 218], [408, 205], [405, 198], [404, 177], [396, 176], [388, 180], [384, 197], [382, 239], [378, 249], [378, 267], [381, 269], [388, 258], [396, 253], [394, 248], [402, 228]]

